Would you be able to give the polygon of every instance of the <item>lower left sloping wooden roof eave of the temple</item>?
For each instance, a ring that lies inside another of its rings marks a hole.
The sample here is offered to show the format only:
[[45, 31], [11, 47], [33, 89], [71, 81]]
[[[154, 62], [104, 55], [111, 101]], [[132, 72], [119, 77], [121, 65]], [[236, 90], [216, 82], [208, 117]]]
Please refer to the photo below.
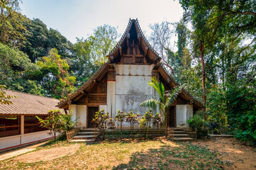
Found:
[[72, 101], [77, 101], [79, 98], [82, 98], [82, 96], [94, 88], [94, 86], [98, 84], [101, 79], [104, 79], [108, 72], [108, 68], [109, 64], [106, 62], [100, 69], [97, 70], [97, 72], [94, 73], [94, 75], [91, 76], [90, 79], [87, 80], [87, 82], [85, 82], [79, 89], [74, 91], [72, 95], [67, 96], [64, 101], [60, 101], [60, 103], [57, 104], [57, 107], [68, 109]]

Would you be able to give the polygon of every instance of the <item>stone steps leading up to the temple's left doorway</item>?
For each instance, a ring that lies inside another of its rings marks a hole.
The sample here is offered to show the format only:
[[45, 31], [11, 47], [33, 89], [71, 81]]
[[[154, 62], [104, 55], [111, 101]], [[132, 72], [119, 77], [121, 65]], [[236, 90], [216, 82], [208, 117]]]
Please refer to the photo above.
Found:
[[[96, 129], [96, 135], [99, 134], [99, 130]], [[85, 128], [79, 130], [77, 135], [73, 137], [69, 142], [94, 142], [94, 128]]]

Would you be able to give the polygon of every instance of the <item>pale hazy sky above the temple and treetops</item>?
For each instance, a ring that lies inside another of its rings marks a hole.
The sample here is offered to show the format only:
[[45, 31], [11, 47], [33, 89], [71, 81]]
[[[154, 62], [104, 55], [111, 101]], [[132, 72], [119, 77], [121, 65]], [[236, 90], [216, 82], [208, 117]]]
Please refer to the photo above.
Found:
[[[73, 43], [104, 24], [118, 27], [118, 33], [123, 34], [129, 18], [138, 18], [140, 28], [147, 34], [150, 23], [174, 23], [183, 13], [177, 0], [23, 0], [20, 7], [23, 15], [39, 18]], [[172, 38], [172, 45], [174, 41], [176, 37]]]

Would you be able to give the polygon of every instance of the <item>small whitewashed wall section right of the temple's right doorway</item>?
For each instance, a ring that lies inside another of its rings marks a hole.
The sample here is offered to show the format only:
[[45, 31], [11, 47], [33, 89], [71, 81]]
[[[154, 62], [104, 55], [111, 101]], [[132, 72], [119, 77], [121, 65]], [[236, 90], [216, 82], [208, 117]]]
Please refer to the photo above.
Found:
[[176, 106], [176, 118], [177, 128], [188, 127], [187, 120], [193, 116], [192, 105], [177, 105]]

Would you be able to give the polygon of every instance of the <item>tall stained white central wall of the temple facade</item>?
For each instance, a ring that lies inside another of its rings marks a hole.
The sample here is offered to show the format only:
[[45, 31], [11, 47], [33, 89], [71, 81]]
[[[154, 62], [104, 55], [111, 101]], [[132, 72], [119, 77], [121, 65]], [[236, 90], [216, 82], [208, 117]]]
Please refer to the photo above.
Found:
[[[148, 85], [152, 79], [151, 65], [116, 64], [116, 111], [143, 115], [148, 108], [140, 103], [155, 96], [155, 89]], [[114, 116], [114, 115], [113, 115]]]

